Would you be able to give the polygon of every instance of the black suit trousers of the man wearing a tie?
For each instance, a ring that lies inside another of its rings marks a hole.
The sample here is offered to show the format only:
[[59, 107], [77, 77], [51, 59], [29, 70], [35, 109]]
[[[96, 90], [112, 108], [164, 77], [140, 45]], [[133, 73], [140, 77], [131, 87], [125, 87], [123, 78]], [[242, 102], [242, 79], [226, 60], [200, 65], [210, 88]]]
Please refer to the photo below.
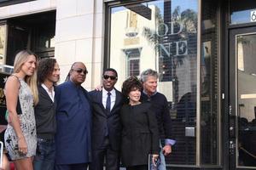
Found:
[[105, 137], [102, 147], [91, 152], [90, 170], [103, 170], [106, 159], [106, 170], [119, 170], [119, 151], [112, 150], [108, 137]]

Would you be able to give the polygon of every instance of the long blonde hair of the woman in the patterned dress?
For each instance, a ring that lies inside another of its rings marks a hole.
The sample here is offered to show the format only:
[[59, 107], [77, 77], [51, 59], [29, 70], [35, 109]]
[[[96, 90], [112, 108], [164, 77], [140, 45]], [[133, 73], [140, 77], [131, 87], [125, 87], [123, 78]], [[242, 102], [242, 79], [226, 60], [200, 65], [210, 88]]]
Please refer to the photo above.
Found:
[[[18, 73], [21, 70], [21, 66], [26, 62], [28, 57], [30, 55], [33, 55], [37, 59], [37, 64], [38, 64], [38, 57], [36, 54], [33, 54], [32, 51], [30, 50], [22, 50], [15, 56], [15, 64], [14, 64], [14, 72]], [[36, 65], [37, 66], [37, 65]], [[37, 86], [37, 69], [33, 73], [31, 77], [26, 76], [24, 78], [25, 82], [28, 84], [28, 86], [32, 90], [32, 96], [34, 99], [34, 105], [38, 104], [38, 86]]]

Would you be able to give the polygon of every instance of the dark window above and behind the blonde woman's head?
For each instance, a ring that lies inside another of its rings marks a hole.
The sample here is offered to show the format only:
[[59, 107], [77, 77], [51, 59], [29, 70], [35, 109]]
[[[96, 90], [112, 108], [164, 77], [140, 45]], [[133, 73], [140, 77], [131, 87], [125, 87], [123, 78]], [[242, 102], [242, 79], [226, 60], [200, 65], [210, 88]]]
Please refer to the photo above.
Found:
[[21, 49], [32, 50], [39, 58], [55, 54], [55, 10], [10, 18], [6, 48], [6, 64], [14, 65], [15, 54]]

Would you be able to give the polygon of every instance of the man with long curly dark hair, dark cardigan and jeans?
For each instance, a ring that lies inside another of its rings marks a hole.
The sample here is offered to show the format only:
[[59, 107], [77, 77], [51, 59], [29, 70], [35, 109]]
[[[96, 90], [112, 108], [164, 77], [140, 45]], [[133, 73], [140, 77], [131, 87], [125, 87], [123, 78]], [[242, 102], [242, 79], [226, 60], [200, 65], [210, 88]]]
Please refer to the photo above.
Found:
[[38, 65], [38, 105], [35, 106], [38, 146], [35, 170], [53, 170], [55, 162], [55, 89], [60, 67], [55, 59], [41, 59]]

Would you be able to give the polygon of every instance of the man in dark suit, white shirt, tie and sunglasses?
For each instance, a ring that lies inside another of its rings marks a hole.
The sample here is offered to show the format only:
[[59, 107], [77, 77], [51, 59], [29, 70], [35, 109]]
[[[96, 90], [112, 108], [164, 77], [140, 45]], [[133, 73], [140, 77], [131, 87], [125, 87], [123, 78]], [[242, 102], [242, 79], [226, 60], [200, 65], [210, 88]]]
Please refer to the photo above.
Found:
[[101, 91], [89, 93], [92, 105], [92, 161], [90, 170], [102, 170], [104, 158], [107, 170], [119, 169], [121, 125], [119, 111], [122, 94], [114, 88], [118, 74], [108, 68], [103, 72]]

